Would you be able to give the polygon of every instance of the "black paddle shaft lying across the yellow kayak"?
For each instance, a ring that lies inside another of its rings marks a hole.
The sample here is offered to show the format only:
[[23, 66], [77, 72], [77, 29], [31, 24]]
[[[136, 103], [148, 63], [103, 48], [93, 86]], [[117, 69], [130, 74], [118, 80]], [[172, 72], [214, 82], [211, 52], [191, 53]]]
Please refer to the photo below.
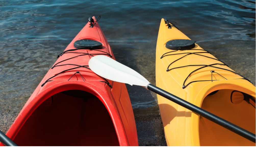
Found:
[[220, 126], [223, 126], [229, 130], [231, 130], [232, 132], [234, 133], [237, 133], [238, 135], [241, 135], [242, 137], [244, 138], [247, 138], [249, 139], [250, 141], [254, 142], [255, 143], [255, 138], [256, 138], [256, 135], [237, 126], [237, 125], [234, 125], [230, 122], [228, 122], [227, 120], [223, 119], [223, 118], [220, 118], [198, 106], [195, 106], [194, 104], [191, 104], [187, 101], [185, 101], [184, 99], [181, 99], [173, 94], [170, 94], [169, 92], [161, 89], [161, 88], [158, 88], [156, 86], [154, 86], [153, 84], [149, 84], [147, 86], [147, 89], [151, 90], [152, 92], [155, 92], [156, 94], [159, 94], [171, 101], [173, 101], [174, 103], [177, 103], [178, 105], [181, 105], [197, 114], [199, 114], [200, 116], [202, 117], [205, 117], [209, 120], [211, 120], [212, 122], [216, 123], [216, 124], [219, 124]]

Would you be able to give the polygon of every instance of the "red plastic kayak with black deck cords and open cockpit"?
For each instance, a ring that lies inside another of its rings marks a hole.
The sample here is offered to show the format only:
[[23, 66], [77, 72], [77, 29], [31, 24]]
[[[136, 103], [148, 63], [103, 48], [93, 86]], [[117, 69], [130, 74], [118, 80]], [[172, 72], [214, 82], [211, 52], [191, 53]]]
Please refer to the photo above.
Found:
[[115, 59], [92, 17], [59, 55], [6, 135], [18, 146], [138, 146], [125, 84], [106, 80], [88, 66], [99, 54]]

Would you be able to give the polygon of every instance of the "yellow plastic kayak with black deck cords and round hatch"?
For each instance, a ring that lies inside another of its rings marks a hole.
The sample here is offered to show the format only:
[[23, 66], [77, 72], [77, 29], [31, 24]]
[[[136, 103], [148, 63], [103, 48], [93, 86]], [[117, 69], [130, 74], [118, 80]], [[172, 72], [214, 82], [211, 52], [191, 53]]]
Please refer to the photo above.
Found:
[[[255, 86], [166, 19], [156, 45], [156, 86], [255, 134]], [[255, 146], [157, 95], [168, 146]]]

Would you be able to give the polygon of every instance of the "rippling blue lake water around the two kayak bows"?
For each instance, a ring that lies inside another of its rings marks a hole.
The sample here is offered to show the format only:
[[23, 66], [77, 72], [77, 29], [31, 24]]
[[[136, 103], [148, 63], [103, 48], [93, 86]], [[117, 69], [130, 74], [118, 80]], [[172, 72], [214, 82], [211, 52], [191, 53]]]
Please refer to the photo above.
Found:
[[[116, 60], [153, 84], [158, 29], [167, 18], [255, 85], [255, 1], [1, 0], [0, 13], [0, 105], [10, 113], [22, 109], [57, 54], [99, 15]], [[154, 93], [127, 89], [136, 112], [157, 110]]]

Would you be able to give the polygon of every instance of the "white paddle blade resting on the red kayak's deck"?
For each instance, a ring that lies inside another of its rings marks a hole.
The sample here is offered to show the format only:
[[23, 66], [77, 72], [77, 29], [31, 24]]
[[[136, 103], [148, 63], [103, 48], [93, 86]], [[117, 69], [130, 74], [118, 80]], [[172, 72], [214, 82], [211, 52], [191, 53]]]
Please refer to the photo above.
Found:
[[147, 79], [133, 69], [104, 55], [92, 57], [89, 60], [89, 67], [94, 73], [112, 81], [139, 85], [146, 88], [150, 84]]

